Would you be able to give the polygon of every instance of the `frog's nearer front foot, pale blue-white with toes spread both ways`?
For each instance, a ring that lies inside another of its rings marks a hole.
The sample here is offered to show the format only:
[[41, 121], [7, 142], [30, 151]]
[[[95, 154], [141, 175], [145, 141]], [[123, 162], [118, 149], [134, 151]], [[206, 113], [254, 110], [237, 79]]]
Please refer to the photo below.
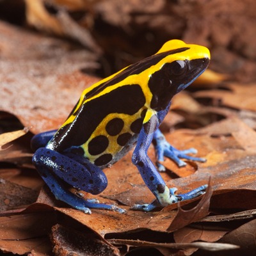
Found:
[[204, 195], [207, 187], [208, 185], [203, 185], [189, 191], [188, 193], [180, 194], [180, 195], [175, 195], [177, 188], [166, 189], [167, 193], [164, 192], [163, 195], [160, 195], [159, 196], [159, 198], [161, 198], [160, 200], [156, 199], [151, 204], [136, 204], [132, 206], [131, 209], [137, 210], [137, 211], [149, 212], [154, 210], [155, 208], [159, 208], [159, 207], [163, 208], [164, 206], [167, 206], [167, 205], [175, 204], [177, 202], [181, 202], [185, 200], [190, 200], [200, 195]]

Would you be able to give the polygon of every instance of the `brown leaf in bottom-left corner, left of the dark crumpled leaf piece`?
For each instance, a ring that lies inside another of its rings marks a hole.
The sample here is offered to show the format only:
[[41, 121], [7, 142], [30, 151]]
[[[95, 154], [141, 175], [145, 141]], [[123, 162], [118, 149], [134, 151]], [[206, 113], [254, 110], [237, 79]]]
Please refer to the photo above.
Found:
[[52, 212], [0, 217], [0, 250], [50, 255], [52, 250], [47, 234], [55, 222]]

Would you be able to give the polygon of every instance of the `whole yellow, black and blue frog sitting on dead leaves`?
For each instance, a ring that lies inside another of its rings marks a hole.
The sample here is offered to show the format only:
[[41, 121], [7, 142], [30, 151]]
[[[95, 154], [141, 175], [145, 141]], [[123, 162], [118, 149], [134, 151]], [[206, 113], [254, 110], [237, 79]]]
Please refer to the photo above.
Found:
[[[132, 209], [152, 211], [204, 194], [207, 185], [176, 195], [177, 189], [166, 186], [147, 150], [154, 140], [158, 161], [169, 157], [179, 166], [186, 165], [180, 158], [205, 161], [187, 155], [196, 153], [194, 148], [173, 148], [159, 125], [172, 97], [200, 76], [209, 60], [206, 47], [170, 40], [156, 54], [86, 88], [58, 131], [37, 134], [31, 141], [36, 150], [33, 163], [54, 196], [86, 213], [90, 209], [124, 212], [116, 205], [75, 195], [67, 185], [99, 194], [108, 184], [102, 169], [134, 147], [132, 163], [156, 199]], [[159, 163], [158, 169], [163, 171], [163, 165]]]

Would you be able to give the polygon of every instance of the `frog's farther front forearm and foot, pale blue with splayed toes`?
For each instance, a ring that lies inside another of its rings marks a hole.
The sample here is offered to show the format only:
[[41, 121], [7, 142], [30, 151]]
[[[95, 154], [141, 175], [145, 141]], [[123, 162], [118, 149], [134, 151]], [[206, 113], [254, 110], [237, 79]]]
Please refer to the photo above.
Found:
[[178, 150], [177, 148], [172, 147], [172, 145], [170, 145], [170, 143], [166, 141], [163, 133], [159, 131], [159, 129], [154, 134], [154, 147], [156, 149], [157, 166], [160, 172], [165, 171], [163, 164], [159, 163], [161, 161], [164, 161], [164, 156], [175, 161], [175, 163], [177, 163], [179, 167], [186, 166], [186, 163], [180, 158], [203, 163], [206, 161], [204, 158], [188, 156], [188, 154], [197, 153], [197, 150], [195, 148]]

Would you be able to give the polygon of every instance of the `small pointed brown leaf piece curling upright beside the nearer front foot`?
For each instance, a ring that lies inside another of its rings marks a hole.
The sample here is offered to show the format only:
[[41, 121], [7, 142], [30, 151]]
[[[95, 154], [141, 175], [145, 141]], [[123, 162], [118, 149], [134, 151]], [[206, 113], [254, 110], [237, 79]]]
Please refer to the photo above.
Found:
[[212, 187], [211, 183], [209, 182], [209, 186], [206, 190], [206, 193], [202, 196], [200, 202], [195, 207], [193, 207], [193, 209], [187, 211], [179, 207], [177, 215], [175, 216], [167, 230], [169, 232], [172, 232], [207, 216], [209, 214], [211, 196]]

